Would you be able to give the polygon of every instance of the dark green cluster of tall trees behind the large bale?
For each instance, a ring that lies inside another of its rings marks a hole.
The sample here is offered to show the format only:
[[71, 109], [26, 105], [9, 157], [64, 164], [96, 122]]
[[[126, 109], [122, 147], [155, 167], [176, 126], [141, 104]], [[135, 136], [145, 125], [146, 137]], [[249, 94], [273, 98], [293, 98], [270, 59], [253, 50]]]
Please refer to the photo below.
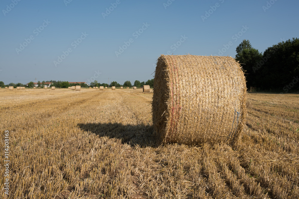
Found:
[[268, 47], [264, 53], [243, 40], [236, 48], [236, 60], [245, 70], [251, 91], [299, 91], [299, 39], [292, 38]]

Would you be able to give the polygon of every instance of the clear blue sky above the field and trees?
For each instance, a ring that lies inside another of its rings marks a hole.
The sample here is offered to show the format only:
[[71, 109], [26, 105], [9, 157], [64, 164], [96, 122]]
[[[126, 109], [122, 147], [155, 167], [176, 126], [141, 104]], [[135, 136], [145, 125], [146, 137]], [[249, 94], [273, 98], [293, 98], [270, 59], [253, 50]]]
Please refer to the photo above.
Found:
[[[153, 64], [161, 54], [215, 55], [226, 45], [223, 55], [235, 57], [243, 39], [263, 52], [281, 38], [299, 33], [299, 2], [268, 2], [269, 9], [263, 0], [2, 0], [0, 81], [95, 79], [103, 83], [109, 77], [133, 84], [153, 78]], [[117, 6], [112, 9], [111, 4]], [[103, 16], [109, 7], [113, 11]], [[233, 37], [238, 33], [239, 38]], [[24, 42], [26, 47], [20, 47]], [[124, 42], [130, 45], [122, 52]], [[68, 49], [68, 56], [59, 60]], [[54, 61], [61, 63], [55, 66]]]

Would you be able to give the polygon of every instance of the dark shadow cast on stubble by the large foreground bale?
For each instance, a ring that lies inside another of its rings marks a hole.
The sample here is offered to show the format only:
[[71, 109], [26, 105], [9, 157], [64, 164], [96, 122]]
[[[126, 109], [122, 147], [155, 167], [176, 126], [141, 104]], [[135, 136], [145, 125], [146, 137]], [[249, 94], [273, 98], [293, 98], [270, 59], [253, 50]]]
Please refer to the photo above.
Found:
[[121, 143], [127, 143], [131, 146], [139, 145], [141, 147], [157, 147], [161, 142], [158, 141], [154, 128], [150, 125], [131, 125], [121, 123], [87, 123], [77, 124], [80, 129], [91, 132], [100, 137], [117, 138]]

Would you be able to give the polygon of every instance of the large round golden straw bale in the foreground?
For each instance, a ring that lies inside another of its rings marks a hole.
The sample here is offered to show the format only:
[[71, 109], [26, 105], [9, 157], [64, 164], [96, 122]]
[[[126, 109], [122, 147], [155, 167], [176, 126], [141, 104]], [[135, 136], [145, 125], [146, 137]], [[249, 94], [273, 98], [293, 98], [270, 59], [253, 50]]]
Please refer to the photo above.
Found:
[[231, 57], [161, 55], [152, 120], [164, 142], [233, 144], [245, 123], [244, 72]]

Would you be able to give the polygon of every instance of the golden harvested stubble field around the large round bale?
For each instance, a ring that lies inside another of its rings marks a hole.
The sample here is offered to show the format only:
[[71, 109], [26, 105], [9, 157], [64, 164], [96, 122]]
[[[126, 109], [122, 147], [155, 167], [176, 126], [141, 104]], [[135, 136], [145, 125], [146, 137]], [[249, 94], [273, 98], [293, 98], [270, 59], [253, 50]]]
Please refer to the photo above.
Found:
[[187, 146], [155, 141], [152, 93], [55, 91], [0, 90], [10, 198], [299, 198], [299, 95], [249, 94], [234, 146]]

